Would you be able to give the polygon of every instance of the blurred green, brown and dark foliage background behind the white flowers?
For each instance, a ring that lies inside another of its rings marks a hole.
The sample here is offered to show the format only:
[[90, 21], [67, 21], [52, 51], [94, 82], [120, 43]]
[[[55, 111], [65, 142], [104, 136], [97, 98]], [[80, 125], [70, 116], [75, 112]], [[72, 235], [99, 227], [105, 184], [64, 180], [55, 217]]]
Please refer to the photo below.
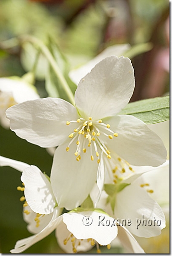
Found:
[[[85, 64], [109, 46], [130, 44], [136, 87], [131, 101], [169, 93], [168, 0], [0, 0], [0, 77], [23, 76], [32, 70], [35, 49], [15, 38], [33, 35], [54, 40], [69, 70]], [[51, 38], [51, 39], [50, 39]], [[139, 48], [139, 46], [141, 46]], [[44, 61], [35, 86], [46, 97]], [[39, 166], [48, 175], [52, 156], [0, 126], [0, 155]], [[20, 173], [0, 169], [0, 253], [9, 253], [17, 240], [30, 236], [22, 216]], [[146, 253], [169, 253], [169, 225], [158, 237], [140, 239]], [[90, 253], [94, 253], [94, 249]], [[54, 233], [24, 253], [64, 253]], [[123, 253], [112, 247], [102, 253]]]

